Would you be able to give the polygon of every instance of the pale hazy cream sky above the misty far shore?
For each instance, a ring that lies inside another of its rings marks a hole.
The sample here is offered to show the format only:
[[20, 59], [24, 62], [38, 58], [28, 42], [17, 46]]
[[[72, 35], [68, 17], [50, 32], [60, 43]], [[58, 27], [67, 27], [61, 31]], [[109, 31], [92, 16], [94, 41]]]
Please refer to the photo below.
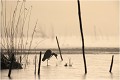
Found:
[[[6, 5], [7, 16], [10, 16], [16, 2], [9, 1]], [[54, 37], [58, 36], [63, 46], [80, 46], [77, 0], [26, 0], [25, 7], [29, 10], [31, 6], [29, 35], [32, 34], [34, 25], [38, 20], [35, 37], [55, 39]], [[119, 1], [82, 0], [81, 16], [86, 46], [118, 47]], [[24, 35], [26, 35], [27, 23], [24, 27]], [[43, 42], [43, 44], [45, 43], [47, 42]]]

